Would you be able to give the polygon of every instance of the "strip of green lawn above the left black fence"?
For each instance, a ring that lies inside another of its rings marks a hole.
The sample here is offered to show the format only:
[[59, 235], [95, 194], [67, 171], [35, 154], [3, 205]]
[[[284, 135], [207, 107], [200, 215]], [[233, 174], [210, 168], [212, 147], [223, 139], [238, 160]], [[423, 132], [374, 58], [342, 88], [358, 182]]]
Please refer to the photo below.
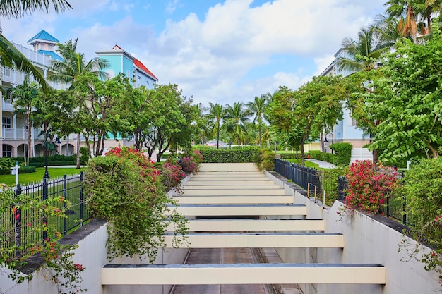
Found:
[[[51, 178], [59, 178], [64, 175], [75, 175], [83, 171], [83, 169], [76, 168], [52, 168], [49, 166], [47, 169]], [[40, 182], [43, 180], [44, 167], [39, 167], [35, 170], [35, 173], [19, 173], [18, 183], [26, 185], [28, 183]], [[16, 185], [16, 176], [14, 175], [0, 175], [0, 183], [5, 183], [8, 186]]]

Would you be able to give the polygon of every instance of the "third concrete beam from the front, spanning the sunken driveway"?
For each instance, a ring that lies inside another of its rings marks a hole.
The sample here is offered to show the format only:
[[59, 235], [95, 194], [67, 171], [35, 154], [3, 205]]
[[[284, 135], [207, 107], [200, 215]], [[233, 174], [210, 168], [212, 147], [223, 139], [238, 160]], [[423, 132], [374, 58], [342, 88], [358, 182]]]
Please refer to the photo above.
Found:
[[192, 219], [187, 227], [191, 232], [324, 231], [325, 222], [323, 219]]

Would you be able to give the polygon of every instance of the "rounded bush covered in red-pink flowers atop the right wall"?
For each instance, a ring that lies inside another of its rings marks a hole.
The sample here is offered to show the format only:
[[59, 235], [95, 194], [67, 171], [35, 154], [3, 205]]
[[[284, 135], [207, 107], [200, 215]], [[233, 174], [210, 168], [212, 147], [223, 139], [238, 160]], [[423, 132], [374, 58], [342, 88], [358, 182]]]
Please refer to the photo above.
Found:
[[382, 213], [388, 193], [398, 186], [395, 169], [371, 161], [356, 161], [347, 172], [348, 209], [369, 214]]

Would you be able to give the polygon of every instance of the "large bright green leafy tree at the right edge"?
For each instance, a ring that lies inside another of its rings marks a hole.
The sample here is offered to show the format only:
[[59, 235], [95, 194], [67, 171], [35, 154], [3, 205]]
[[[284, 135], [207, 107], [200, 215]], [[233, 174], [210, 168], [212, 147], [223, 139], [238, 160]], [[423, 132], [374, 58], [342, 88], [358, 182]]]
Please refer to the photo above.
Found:
[[367, 102], [374, 118], [382, 118], [371, 148], [381, 159], [438, 157], [442, 145], [442, 36], [436, 28], [426, 46], [402, 39], [386, 56], [385, 78], [374, 80], [378, 92]]

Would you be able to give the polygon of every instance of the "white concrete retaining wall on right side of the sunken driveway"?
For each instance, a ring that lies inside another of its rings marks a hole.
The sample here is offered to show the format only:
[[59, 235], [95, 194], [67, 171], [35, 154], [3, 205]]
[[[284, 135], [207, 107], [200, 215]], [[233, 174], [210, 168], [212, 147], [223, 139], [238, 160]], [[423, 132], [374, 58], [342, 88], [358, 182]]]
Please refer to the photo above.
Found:
[[[278, 180], [267, 173], [277, 183]], [[292, 190], [282, 183], [287, 193]], [[292, 192], [293, 193], [293, 192]], [[398, 252], [402, 239], [407, 239], [410, 245], [415, 242], [405, 237], [393, 228], [375, 221], [370, 216], [355, 212], [352, 219], [340, 220], [338, 214], [341, 202], [335, 202], [333, 207], [323, 209], [312, 200], [295, 193], [294, 202], [306, 204], [307, 218], [315, 219], [323, 216], [326, 233], [342, 233], [345, 247], [341, 249], [287, 249], [277, 250], [284, 262], [317, 262], [317, 263], [364, 263], [382, 264], [386, 267], [386, 285], [299, 285], [304, 294], [415, 294], [438, 293], [442, 290], [438, 283], [438, 275], [434, 271], [425, 271], [424, 264], [408, 258], [408, 252]], [[426, 248], [429, 250], [429, 248]]]

